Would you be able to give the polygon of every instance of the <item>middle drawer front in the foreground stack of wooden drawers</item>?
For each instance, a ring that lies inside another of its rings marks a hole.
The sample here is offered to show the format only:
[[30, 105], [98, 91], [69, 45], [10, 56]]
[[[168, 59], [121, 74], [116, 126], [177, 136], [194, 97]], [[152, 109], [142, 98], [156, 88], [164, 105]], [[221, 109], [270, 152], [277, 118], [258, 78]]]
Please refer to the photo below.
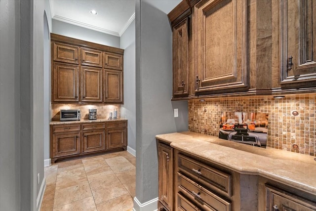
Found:
[[231, 203], [178, 172], [178, 189], [205, 211], [230, 211]]

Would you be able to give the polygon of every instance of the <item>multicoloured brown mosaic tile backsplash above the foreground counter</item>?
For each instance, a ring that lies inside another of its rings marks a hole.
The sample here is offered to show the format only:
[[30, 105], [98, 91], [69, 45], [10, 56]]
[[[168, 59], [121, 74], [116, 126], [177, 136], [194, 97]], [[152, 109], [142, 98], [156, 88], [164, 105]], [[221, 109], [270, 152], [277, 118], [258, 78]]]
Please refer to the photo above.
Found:
[[315, 101], [316, 93], [189, 100], [189, 130], [218, 136], [222, 111], [268, 113], [267, 147], [316, 156]]

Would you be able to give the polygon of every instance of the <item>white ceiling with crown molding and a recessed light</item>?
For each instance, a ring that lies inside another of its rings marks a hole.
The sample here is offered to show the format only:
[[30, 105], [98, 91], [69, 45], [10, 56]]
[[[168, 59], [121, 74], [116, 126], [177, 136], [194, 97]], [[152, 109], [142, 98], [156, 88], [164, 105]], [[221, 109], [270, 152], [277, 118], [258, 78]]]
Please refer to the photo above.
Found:
[[[169, 13], [181, 0], [147, 0]], [[49, 0], [51, 16], [80, 27], [120, 37], [135, 19], [135, 0]], [[92, 15], [90, 10], [96, 10]]]

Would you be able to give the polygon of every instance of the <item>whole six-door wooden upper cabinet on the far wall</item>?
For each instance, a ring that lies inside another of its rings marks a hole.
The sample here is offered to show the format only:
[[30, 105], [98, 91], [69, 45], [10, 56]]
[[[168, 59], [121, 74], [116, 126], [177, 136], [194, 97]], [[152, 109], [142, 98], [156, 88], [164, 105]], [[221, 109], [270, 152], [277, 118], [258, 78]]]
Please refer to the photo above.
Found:
[[52, 103], [123, 103], [124, 50], [51, 34]]

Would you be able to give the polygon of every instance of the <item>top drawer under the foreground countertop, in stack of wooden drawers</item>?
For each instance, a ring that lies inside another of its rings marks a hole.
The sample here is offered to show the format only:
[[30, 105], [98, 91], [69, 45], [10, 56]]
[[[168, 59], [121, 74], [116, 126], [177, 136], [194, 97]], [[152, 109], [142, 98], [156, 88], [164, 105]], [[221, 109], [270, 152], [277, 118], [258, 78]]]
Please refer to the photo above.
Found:
[[231, 174], [206, 166], [181, 154], [178, 155], [178, 167], [180, 171], [192, 175], [210, 189], [229, 197], [232, 196]]

